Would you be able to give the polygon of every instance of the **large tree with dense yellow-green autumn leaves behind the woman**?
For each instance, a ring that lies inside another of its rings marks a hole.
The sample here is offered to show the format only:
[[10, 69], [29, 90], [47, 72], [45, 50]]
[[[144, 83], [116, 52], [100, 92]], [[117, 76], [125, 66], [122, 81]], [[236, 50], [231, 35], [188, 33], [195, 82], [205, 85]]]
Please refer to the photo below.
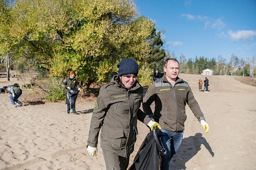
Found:
[[[74, 70], [87, 88], [95, 81], [108, 82], [121, 58], [134, 58], [142, 67], [142, 61], [164, 56], [154, 22], [136, 18], [130, 0], [17, 0], [5, 9], [9, 11], [1, 11], [1, 16], [6, 14], [8, 28], [1, 27], [1, 42], [9, 36], [7, 46], [17, 45], [19, 58], [35, 62], [54, 77]], [[13, 18], [9, 21], [7, 16]]]

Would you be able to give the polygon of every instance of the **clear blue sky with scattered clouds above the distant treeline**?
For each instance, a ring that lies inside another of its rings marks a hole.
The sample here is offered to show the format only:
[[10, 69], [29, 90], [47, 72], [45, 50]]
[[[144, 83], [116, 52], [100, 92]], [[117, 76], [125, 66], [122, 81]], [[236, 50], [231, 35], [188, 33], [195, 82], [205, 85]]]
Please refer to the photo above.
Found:
[[179, 59], [197, 56], [226, 63], [232, 54], [256, 57], [256, 0], [134, 0], [139, 15], [164, 30], [164, 49]]

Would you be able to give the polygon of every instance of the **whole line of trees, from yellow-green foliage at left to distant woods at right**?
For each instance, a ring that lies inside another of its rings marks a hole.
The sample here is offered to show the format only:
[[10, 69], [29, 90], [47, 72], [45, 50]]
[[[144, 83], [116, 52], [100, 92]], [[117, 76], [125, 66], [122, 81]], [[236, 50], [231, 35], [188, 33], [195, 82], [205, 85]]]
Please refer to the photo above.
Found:
[[[87, 89], [106, 83], [116, 74], [121, 58], [139, 64], [142, 85], [163, 71], [166, 57], [162, 31], [153, 20], [140, 16], [132, 0], [0, 0], [1, 69], [35, 70], [42, 76], [63, 79], [74, 70]], [[195, 59], [177, 57], [180, 71], [201, 74], [205, 68], [216, 75], [249, 76], [255, 57], [244, 61], [234, 54]]]

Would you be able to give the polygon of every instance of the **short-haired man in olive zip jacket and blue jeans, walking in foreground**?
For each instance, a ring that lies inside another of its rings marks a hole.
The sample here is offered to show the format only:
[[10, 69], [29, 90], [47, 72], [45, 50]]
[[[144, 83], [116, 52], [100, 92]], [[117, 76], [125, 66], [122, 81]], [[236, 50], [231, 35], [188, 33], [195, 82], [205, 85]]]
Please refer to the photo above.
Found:
[[[188, 83], [178, 77], [179, 62], [173, 58], [166, 59], [164, 72], [165, 75], [148, 88], [142, 106], [143, 111], [162, 128], [159, 136], [166, 150], [166, 156], [162, 157], [161, 170], [168, 170], [170, 159], [178, 152], [182, 141], [187, 118], [186, 104], [198, 118], [206, 134], [209, 126]], [[150, 107], [153, 102], [155, 102], [154, 114]]]

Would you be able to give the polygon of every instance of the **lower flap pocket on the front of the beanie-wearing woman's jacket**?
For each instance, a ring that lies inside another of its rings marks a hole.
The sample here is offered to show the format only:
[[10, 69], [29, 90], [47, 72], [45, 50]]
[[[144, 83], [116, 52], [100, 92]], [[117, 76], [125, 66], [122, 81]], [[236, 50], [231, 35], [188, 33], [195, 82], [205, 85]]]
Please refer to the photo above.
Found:
[[108, 130], [108, 140], [112, 148], [121, 148], [122, 140], [124, 140], [123, 130]]

